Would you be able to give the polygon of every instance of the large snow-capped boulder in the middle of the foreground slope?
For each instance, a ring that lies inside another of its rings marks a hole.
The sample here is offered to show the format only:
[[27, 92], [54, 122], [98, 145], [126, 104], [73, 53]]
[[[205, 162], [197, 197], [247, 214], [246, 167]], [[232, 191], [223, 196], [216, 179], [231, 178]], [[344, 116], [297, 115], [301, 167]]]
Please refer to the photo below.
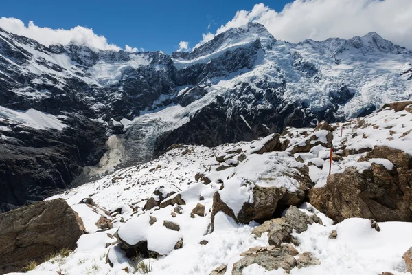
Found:
[[301, 203], [312, 188], [308, 166], [286, 152], [249, 155], [234, 171], [214, 194], [212, 224], [219, 211], [238, 223], [266, 221]]

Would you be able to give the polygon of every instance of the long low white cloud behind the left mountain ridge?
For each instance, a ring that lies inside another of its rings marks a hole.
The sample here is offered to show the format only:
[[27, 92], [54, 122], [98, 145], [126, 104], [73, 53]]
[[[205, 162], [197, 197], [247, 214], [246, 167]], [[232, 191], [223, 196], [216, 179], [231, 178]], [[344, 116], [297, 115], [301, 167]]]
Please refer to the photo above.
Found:
[[[34, 39], [46, 46], [54, 44], [67, 45], [69, 43], [74, 43], [76, 45], [90, 47], [91, 49], [122, 50], [122, 48], [117, 45], [109, 44], [104, 36], [95, 34], [92, 29], [80, 26], [71, 28], [70, 30], [54, 30], [52, 28], [38, 27], [34, 25], [32, 21], [30, 21], [26, 26], [20, 19], [1, 17], [0, 28], [3, 28], [3, 30], [13, 34], [30, 37], [31, 39]], [[128, 52], [137, 52], [137, 48], [133, 48], [128, 45], [126, 45], [125, 50]]]

